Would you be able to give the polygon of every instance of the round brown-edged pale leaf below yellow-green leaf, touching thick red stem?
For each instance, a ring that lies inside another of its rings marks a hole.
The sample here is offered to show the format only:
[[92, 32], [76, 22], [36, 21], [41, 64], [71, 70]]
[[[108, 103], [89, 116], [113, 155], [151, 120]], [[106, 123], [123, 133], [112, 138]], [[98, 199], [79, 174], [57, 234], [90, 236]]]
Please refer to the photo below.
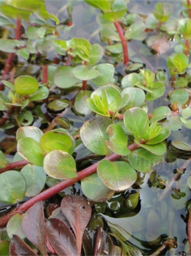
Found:
[[74, 158], [62, 150], [53, 150], [44, 157], [44, 171], [55, 179], [77, 177]]

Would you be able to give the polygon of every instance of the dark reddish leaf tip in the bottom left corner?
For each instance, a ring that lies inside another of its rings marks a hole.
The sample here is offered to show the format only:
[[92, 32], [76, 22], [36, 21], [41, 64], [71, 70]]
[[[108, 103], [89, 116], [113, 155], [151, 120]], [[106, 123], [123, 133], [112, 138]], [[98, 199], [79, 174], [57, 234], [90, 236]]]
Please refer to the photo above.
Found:
[[34, 255], [38, 254], [33, 251], [26, 242], [24, 242], [18, 235], [13, 235], [13, 238], [10, 242], [9, 253], [11, 256], [23, 256], [23, 255]]

